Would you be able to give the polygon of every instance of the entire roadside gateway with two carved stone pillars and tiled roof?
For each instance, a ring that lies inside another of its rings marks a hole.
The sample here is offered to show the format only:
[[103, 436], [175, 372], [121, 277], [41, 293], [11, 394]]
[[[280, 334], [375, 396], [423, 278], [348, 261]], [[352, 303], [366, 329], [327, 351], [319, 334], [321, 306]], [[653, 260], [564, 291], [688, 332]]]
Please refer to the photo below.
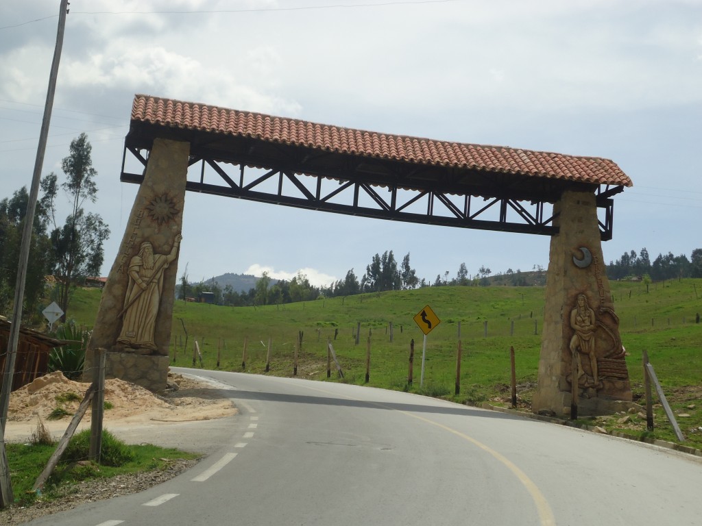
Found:
[[[125, 170], [126, 159], [143, 173]], [[197, 180], [188, 168], [199, 165]], [[185, 191], [333, 213], [551, 236], [535, 412], [607, 412], [631, 400], [604, 274], [607, 159], [372, 133], [136, 95], [121, 180], [140, 184], [102, 292], [86, 370], [166, 385]], [[598, 209], [602, 212], [598, 215]], [[600, 216], [602, 219], [600, 219]]]

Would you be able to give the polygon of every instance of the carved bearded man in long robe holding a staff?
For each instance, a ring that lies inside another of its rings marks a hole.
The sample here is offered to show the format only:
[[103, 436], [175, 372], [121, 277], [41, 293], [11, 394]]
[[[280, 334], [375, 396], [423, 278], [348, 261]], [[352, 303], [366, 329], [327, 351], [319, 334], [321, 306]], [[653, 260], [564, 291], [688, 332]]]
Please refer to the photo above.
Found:
[[176, 259], [183, 236], [176, 235], [171, 253], [154, 254], [148, 241], [141, 244], [138, 255], [131, 258], [127, 274], [129, 283], [124, 296], [122, 330], [117, 342], [135, 348], [156, 350], [154, 330], [164, 288], [164, 271]]

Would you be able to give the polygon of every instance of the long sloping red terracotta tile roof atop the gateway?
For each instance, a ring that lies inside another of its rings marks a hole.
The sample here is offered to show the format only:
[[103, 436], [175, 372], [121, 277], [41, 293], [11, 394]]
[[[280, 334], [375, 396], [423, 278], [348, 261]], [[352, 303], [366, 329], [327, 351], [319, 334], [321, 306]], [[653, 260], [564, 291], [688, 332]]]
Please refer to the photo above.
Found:
[[632, 186], [616, 163], [599, 157], [375, 133], [148, 95], [135, 95], [131, 119], [373, 158]]

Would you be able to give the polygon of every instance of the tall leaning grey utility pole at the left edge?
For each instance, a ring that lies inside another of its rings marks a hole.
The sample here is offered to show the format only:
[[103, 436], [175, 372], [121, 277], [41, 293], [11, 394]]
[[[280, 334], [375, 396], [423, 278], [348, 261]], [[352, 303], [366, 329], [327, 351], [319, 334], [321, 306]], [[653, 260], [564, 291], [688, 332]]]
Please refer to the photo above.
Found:
[[7, 422], [7, 412], [10, 405], [10, 393], [12, 391], [13, 375], [15, 372], [15, 360], [17, 358], [17, 346], [20, 339], [20, 322], [22, 320], [22, 304], [25, 299], [25, 279], [27, 278], [27, 261], [29, 260], [29, 245], [32, 242], [32, 227], [34, 227], [34, 210], [37, 208], [37, 196], [39, 195], [39, 181], [41, 180], [41, 168], [44, 166], [44, 152], [46, 151], [46, 137], [48, 136], [48, 126], [51, 123], [51, 109], [53, 109], [53, 96], [56, 91], [56, 78], [58, 77], [58, 64], [61, 60], [61, 49], [63, 47], [63, 32], [66, 25], [66, 15], [68, 14], [68, 0], [61, 0], [58, 12], [58, 31], [56, 33], [56, 46], [53, 51], [53, 62], [51, 64], [51, 74], [48, 79], [48, 90], [46, 92], [46, 104], [44, 106], [44, 119], [41, 121], [41, 132], [39, 133], [39, 146], [37, 147], [37, 157], [34, 160], [34, 175], [32, 176], [32, 187], [29, 191], [29, 201], [27, 201], [27, 213], [25, 215], [25, 228], [22, 231], [22, 245], [20, 245], [20, 260], [18, 263], [17, 282], [15, 283], [15, 304], [12, 316], [12, 326], [10, 328], [10, 341], [7, 346], [7, 358], [5, 360], [5, 372], [3, 375], [2, 391], [0, 392], [0, 508], [6, 508], [15, 501], [10, 482], [10, 467], [7, 461], [5, 449], [5, 424]]

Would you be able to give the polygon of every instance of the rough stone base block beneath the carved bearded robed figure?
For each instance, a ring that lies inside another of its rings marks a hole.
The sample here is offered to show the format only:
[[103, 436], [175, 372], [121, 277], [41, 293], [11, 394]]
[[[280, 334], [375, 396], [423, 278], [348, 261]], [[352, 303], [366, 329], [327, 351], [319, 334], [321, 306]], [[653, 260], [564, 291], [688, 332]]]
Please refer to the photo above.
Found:
[[[119, 351], [122, 349], [119, 348]], [[140, 355], [119, 351], [114, 349], [105, 356], [105, 378], [119, 378], [152, 392], [166, 389], [168, 364], [170, 363], [168, 356]], [[88, 350], [84, 367], [84, 382], [93, 381], [91, 375], [94, 363], [93, 353]]]

